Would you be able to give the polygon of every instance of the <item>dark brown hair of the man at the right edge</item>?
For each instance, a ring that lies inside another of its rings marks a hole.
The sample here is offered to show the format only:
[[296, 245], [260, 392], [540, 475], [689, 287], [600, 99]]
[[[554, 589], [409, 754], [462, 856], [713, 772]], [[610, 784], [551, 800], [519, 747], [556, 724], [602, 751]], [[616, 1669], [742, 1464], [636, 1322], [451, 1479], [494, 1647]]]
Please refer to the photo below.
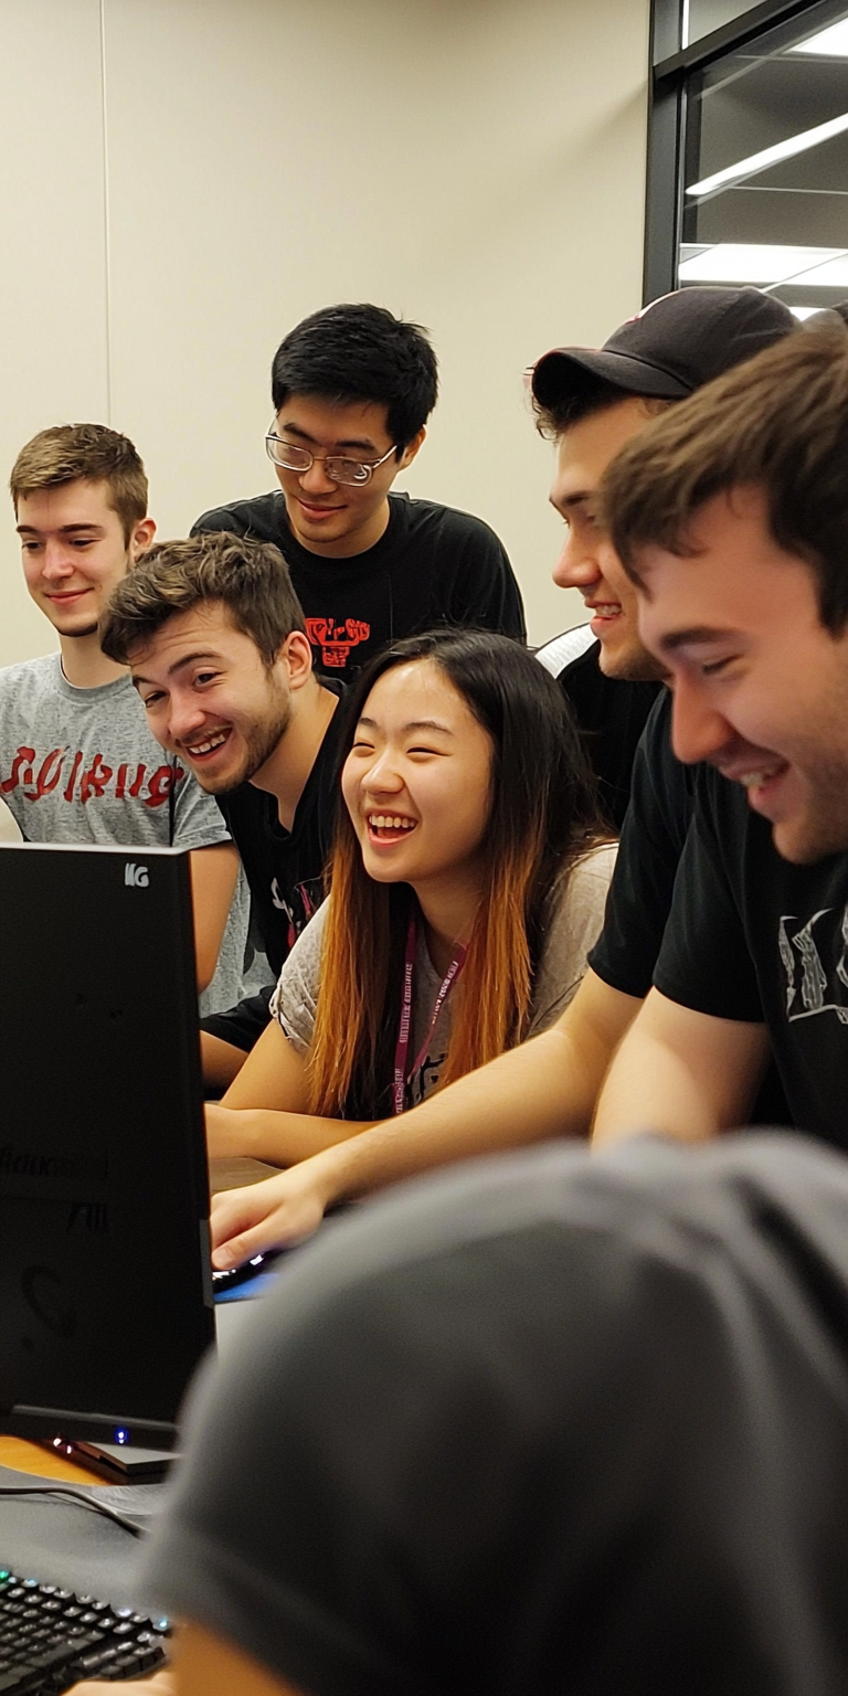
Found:
[[848, 619], [848, 336], [787, 336], [628, 443], [604, 478], [614, 548], [639, 582], [648, 546], [695, 551], [694, 514], [760, 488], [773, 539], [812, 568], [823, 624]]

